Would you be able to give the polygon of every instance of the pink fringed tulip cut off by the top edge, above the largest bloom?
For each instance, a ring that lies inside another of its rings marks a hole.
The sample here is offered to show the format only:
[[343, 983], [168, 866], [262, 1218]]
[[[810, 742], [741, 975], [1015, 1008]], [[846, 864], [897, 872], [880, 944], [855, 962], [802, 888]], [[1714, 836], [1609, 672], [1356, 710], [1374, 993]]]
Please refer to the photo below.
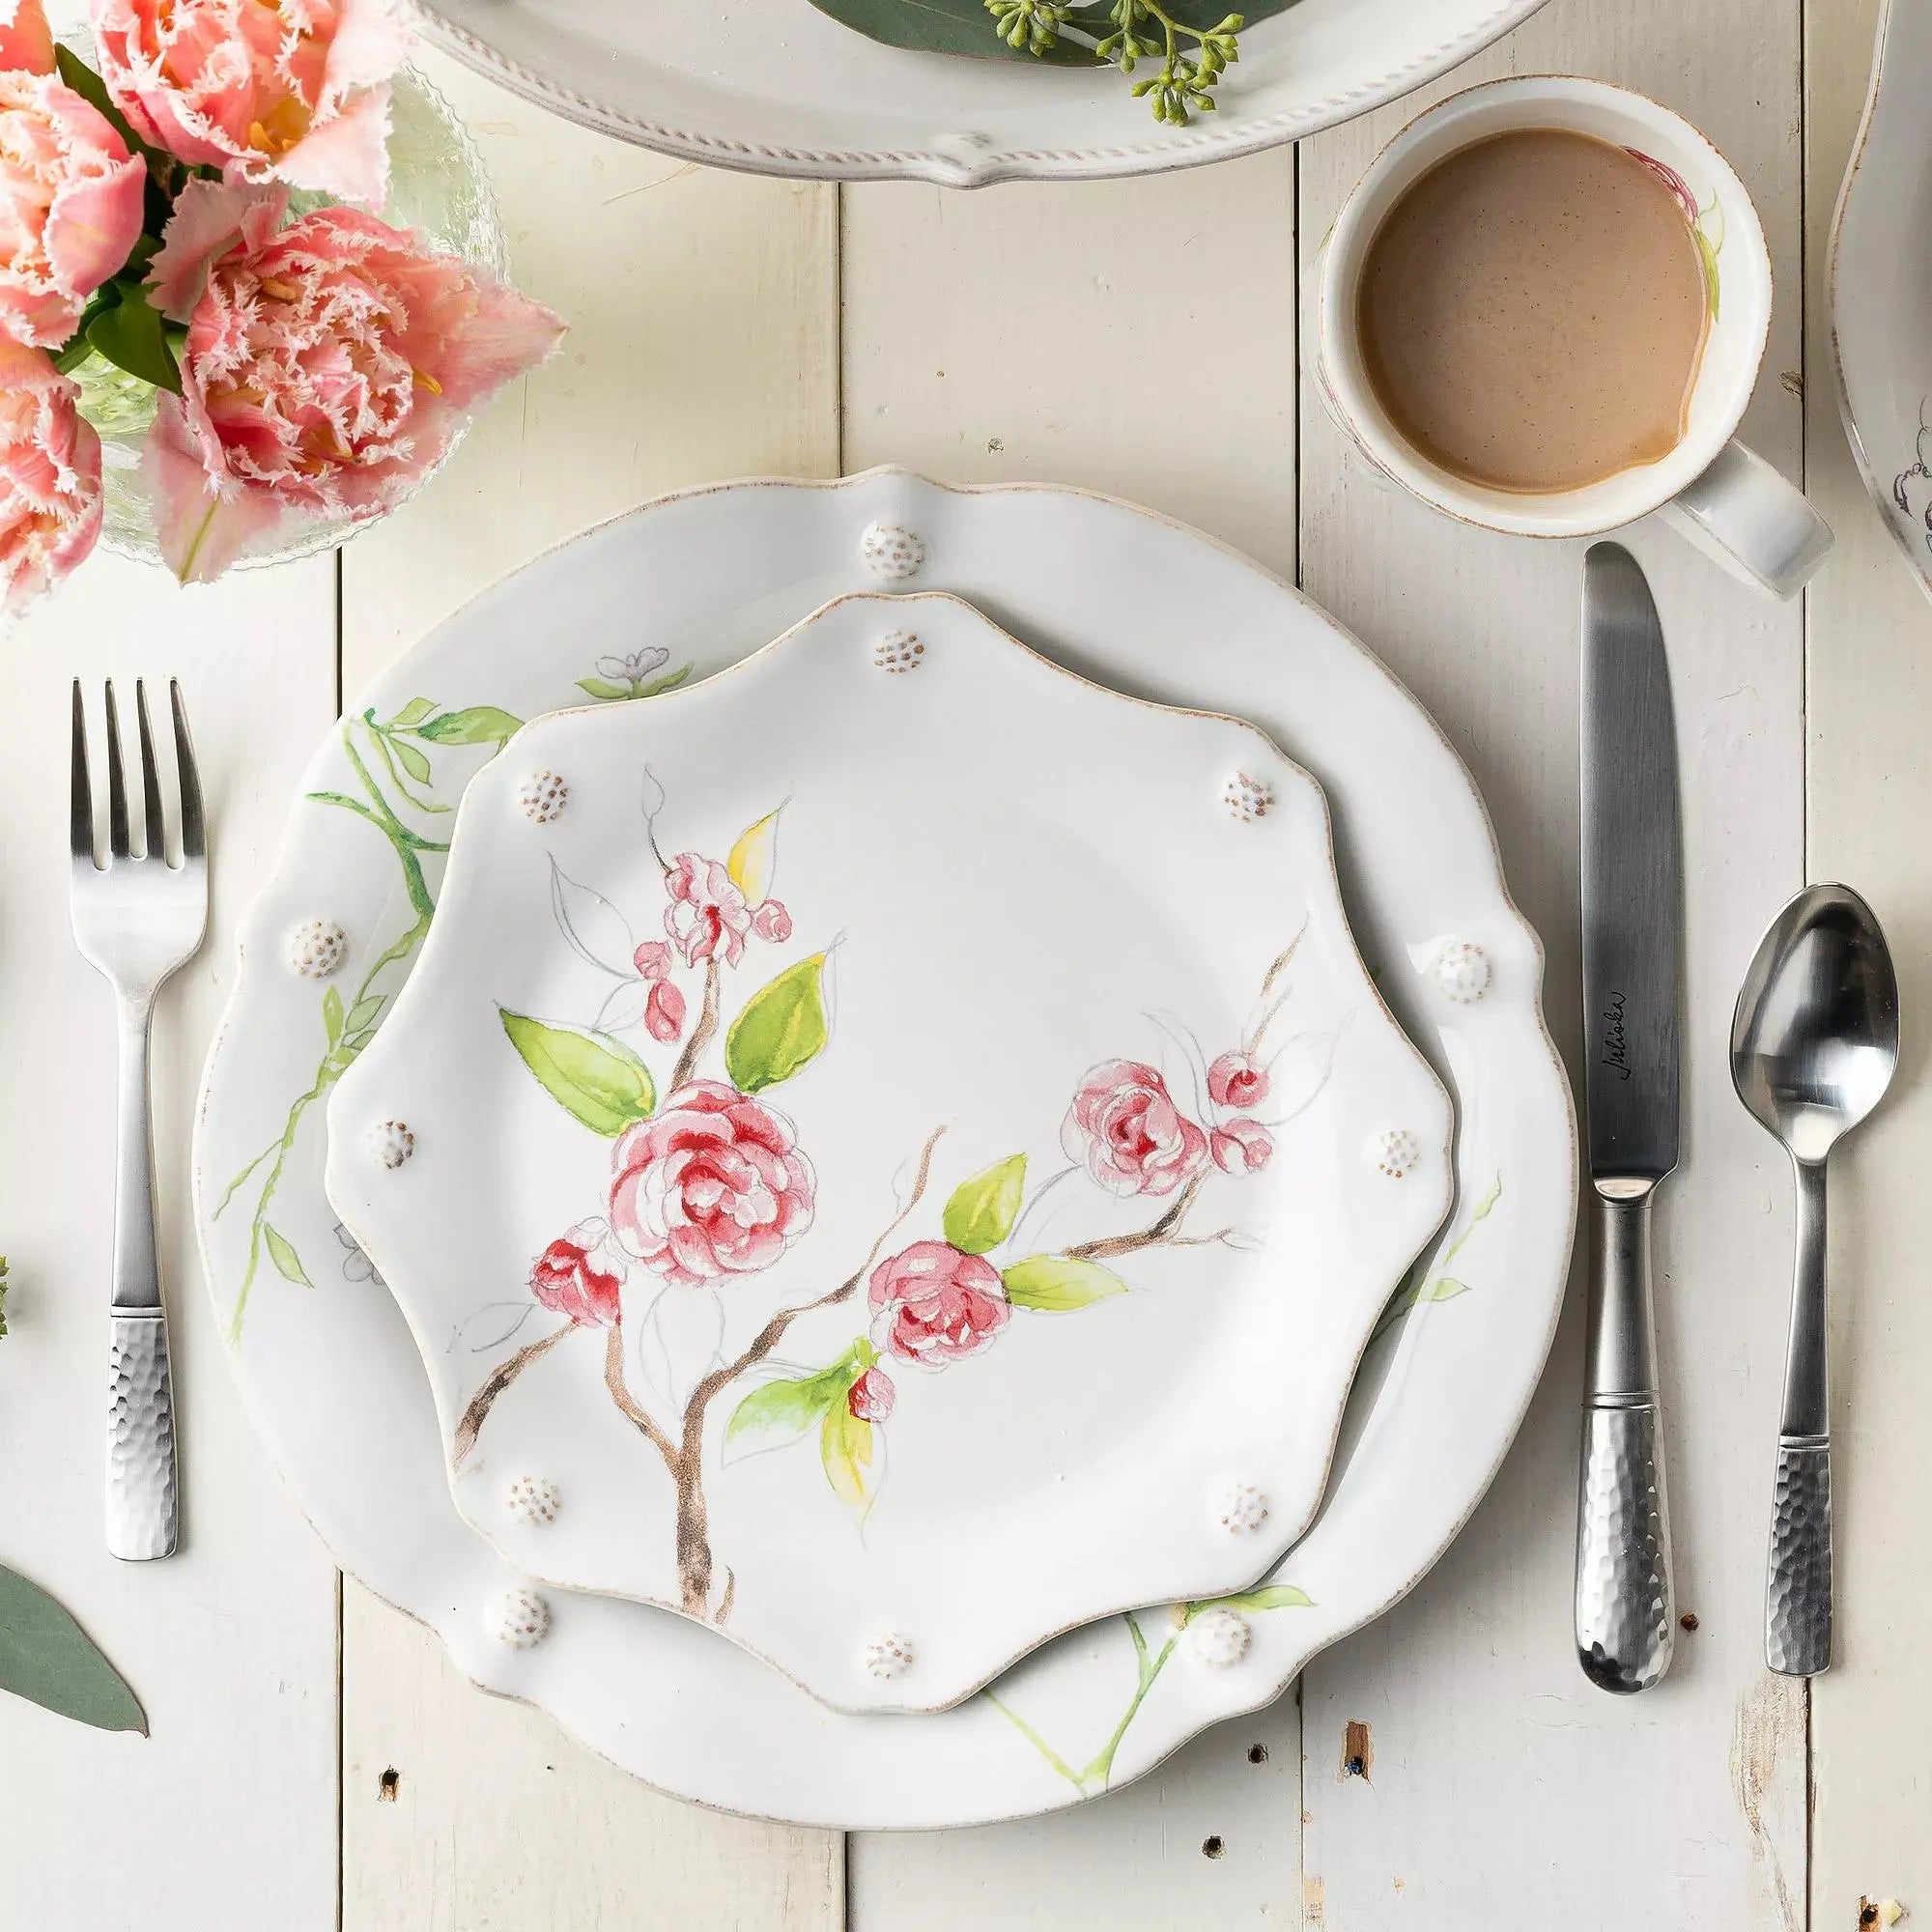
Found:
[[100, 75], [135, 133], [245, 182], [379, 205], [398, 0], [93, 0]]

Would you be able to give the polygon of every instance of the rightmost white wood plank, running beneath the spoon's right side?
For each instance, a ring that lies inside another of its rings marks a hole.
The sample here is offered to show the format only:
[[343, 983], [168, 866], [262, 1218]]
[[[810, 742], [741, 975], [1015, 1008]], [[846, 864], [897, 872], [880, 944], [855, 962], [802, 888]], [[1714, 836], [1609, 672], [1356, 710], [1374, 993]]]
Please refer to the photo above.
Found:
[[1853, 1928], [1866, 1903], [1932, 1911], [1932, 605], [1851, 460], [1828, 355], [1832, 209], [1864, 102], [1874, 0], [1810, 0], [1806, 21], [1806, 468], [1839, 549], [1810, 593], [1808, 858], [1864, 893], [1897, 954], [1905, 1065], [1870, 1126], [1832, 1161], [1837, 1656], [1812, 1689], [1812, 1922]]

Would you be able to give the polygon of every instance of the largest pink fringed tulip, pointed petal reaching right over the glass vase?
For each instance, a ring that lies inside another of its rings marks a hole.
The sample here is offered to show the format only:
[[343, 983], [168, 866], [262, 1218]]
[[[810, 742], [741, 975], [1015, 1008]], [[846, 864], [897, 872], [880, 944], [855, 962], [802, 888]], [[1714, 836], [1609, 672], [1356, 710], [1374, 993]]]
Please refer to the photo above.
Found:
[[182, 394], [147, 444], [160, 547], [207, 582], [284, 510], [365, 522], [435, 468], [464, 415], [564, 325], [357, 209], [286, 228], [280, 189], [189, 182], [149, 269], [187, 325]]

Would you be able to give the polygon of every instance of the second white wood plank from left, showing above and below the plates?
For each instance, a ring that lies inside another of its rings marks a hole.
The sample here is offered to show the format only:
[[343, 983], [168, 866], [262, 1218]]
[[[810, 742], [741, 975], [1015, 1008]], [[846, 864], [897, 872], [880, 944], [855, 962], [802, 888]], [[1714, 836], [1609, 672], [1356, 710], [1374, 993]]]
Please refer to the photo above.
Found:
[[[344, 551], [344, 690], [537, 551], [651, 495], [837, 466], [829, 187], [659, 160], [429, 70], [483, 149], [560, 355], [448, 471]], [[717, 1818], [462, 1683], [423, 1631], [344, 1598], [344, 1926], [833, 1932], [842, 1847]], [[394, 1770], [396, 1797], [383, 1774]]]

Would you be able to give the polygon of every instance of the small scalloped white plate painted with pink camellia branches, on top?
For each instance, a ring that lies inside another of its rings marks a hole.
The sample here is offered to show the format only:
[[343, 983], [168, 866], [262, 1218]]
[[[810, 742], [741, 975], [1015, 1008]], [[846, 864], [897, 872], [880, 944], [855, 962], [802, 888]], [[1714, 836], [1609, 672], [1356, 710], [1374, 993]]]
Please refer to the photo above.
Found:
[[854, 595], [469, 784], [327, 1190], [512, 1563], [918, 1712], [1279, 1561], [1449, 1136], [1304, 771]]

